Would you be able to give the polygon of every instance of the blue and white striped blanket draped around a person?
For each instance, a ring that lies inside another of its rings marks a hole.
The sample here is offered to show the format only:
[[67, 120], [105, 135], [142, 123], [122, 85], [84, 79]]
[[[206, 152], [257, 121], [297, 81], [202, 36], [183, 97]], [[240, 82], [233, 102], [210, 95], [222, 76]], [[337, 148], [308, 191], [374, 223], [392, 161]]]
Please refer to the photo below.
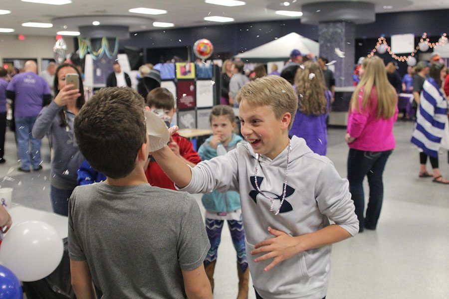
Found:
[[438, 83], [433, 78], [428, 78], [421, 92], [412, 143], [426, 154], [438, 157], [447, 120], [448, 102]]

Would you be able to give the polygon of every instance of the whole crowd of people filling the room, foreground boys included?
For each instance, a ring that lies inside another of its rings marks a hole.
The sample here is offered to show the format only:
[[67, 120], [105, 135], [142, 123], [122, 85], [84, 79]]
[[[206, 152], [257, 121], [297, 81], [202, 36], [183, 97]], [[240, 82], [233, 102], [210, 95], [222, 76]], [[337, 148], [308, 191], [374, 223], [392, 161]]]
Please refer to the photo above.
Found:
[[[237, 299], [248, 298], [249, 274], [257, 299], [325, 298], [330, 245], [378, 226], [400, 93], [413, 94], [417, 108], [411, 141], [420, 149], [419, 177], [449, 184], [438, 160], [440, 149], [449, 149], [443, 63], [420, 61], [401, 79], [393, 62], [359, 60], [345, 135], [347, 180], [325, 156], [335, 99], [328, 65], [326, 57], [297, 49], [270, 75], [262, 64], [245, 73], [242, 61], [225, 60], [212, 135], [198, 151], [169, 128], [175, 98], [152, 65], [139, 69], [135, 91], [114, 63], [107, 88], [88, 101], [71, 63], [49, 64], [39, 77], [27, 61], [9, 82], [0, 69], [0, 163], [9, 98], [20, 171], [42, 169], [40, 140], [48, 137], [50, 200], [53, 212], [68, 216], [78, 298], [212, 298], [225, 221], [236, 252]], [[66, 82], [67, 74], [78, 81]], [[238, 108], [238, 124], [231, 107]], [[170, 136], [151, 152], [147, 113]], [[204, 193], [205, 220], [178, 190]], [[1, 210], [0, 216], [7, 230], [10, 218]]]

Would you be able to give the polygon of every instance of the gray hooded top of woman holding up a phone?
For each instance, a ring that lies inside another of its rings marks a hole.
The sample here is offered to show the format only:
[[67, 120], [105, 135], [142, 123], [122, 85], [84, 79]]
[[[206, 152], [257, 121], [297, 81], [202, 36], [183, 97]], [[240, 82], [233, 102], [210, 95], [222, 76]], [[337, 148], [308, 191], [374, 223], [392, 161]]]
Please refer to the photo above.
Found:
[[42, 139], [48, 135], [51, 152], [50, 183], [52, 186], [70, 190], [77, 186], [77, 170], [84, 160], [73, 136], [73, 121], [75, 115], [66, 110], [68, 128], [61, 127], [58, 112], [65, 107], [59, 107], [51, 102], [42, 108], [33, 126], [32, 135]]

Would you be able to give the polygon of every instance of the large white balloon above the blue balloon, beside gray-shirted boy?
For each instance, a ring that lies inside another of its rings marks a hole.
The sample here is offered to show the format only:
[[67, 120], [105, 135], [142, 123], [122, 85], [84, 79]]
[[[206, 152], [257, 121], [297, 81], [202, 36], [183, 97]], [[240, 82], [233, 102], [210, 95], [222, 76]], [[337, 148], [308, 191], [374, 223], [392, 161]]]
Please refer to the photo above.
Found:
[[25, 221], [4, 235], [0, 264], [22, 282], [37, 281], [56, 269], [62, 259], [63, 247], [54, 227], [42, 221]]

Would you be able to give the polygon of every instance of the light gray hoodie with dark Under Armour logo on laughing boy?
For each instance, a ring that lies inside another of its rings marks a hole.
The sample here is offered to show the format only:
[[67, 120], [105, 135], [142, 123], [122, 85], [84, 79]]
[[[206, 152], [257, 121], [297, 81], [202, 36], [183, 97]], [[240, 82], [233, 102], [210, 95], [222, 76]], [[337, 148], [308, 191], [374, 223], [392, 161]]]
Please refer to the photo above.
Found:
[[[256, 155], [249, 144], [223, 156], [203, 161], [192, 168], [192, 180], [181, 189], [190, 193], [213, 190], [240, 193], [249, 270], [257, 292], [264, 299], [317, 299], [326, 296], [330, 276], [331, 246], [305, 251], [285, 260], [268, 272], [272, 259], [254, 263], [254, 245], [273, 236], [268, 226], [291, 236], [315, 232], [332, 220], [352, 236], [359, 229], [348, 181], [333, 163], [312, 152], [302, 138], [293, 136], [285, 201], [279, 215], [269, 211], [270, 201], [259, 194], [254, 183]], [[287, 149], [271, 160], [259, 158], [258, 186], [265, 195], [282, 198]], [[279, 208], [276, 200], [274, 209]]]

